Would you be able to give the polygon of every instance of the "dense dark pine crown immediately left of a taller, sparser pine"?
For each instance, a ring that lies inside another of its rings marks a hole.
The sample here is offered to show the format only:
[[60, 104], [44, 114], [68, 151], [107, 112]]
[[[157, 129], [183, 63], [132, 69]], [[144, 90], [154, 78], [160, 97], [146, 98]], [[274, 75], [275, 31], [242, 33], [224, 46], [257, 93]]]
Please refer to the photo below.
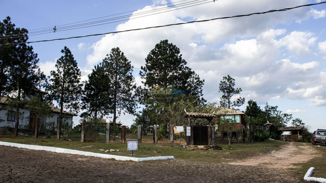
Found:
[[87, 115], [97, 118], [98, 114], [104, 116], [112, 113], [111, 82], [108, 82], [108, 79], [104, 68], [99, 65], [94, 66], [92, 73], [88, 75], [82, 96], [82, 109], [87, 110]]

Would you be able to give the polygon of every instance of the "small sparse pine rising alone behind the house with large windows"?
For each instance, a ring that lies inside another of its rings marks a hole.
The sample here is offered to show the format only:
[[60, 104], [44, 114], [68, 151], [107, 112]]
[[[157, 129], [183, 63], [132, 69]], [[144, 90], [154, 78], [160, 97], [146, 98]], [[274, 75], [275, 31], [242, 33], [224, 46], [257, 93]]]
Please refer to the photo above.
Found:
[[221, 106], [227, 107], [229, 109], [234, 109], [235, 107], [240, 107], [244, 104], [244, 98], [239, 97], [236, 101], [232, 101], [232, 96], [240, 94], [242, 91], [241, 88], [234, 88], [235, 79], [228, 75], [223, 77], [222, 81], [219, 84], [219, 92], [222, 92], [220, 104]]

